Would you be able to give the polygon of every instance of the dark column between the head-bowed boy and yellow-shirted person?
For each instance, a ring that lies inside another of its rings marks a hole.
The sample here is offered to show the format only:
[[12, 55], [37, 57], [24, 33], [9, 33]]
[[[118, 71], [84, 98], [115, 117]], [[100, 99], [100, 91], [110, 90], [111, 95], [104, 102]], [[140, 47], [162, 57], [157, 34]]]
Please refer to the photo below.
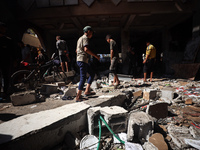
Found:
[[128, 71], [128, 59], [126, 53], [128, 52], [128, 46], [130, 41], [130, 32], [127, 30], [121, 30], [121, 53], [122, 53], [122, 72], [127, 73]]

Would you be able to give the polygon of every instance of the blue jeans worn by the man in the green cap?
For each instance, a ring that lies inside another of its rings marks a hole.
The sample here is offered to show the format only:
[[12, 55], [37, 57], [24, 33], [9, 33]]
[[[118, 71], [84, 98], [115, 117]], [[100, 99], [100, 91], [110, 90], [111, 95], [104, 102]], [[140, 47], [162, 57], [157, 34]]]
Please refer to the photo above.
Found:
[[80, 68], [80, 82], [79, 82], [78, 89], [83, 90], [84, 83], [85, 83], [85, 80], [86, 80], [86, 77], [87, 77], [87, 73], [90, 75], [89, 78], [88, 78], [88, 81], [87, 81], [88, 84], [92, 84], [92, 81], [94, 80], [95, 73], [91, 69], [90, 65], [87, 64], [87, 63], [84, 63], [82, 61], [77, 61], [77, 65]]

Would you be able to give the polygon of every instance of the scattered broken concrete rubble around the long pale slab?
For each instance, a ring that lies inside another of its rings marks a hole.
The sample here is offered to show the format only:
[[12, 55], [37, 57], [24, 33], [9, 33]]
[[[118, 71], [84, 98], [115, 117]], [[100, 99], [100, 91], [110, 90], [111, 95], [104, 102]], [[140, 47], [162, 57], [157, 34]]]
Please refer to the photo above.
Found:
[[[91, 88], [98, 93], [97, 97], [109, 97], [107, 94], [121, 92], [126, 99], [121, 106], [90, 107], [87, 110], [88, 129], [84, 135], [99, 136], [98, 119], [102, 115], [115, 134], [124, 133], [128, 142], [140, 144], [145, 150], [192, 150], [200, 147], [196, 142], [200, 140], [199, 81], [163, 78], [144, 83], [142, 79], [119, 76], [121, 84], [110, 86], [112, 76], [109, 77], [103, 76], [93, 82]], [[43, 85], [41, 94], [58, 100], [72, 100], [76, 90], [77, 84], [51, 84]], [[31, 98], [31, 102], [18, 104], [15, 102], [18, 96], [21, 95], [12, 96], [13, 105], [35, 102]], [[80, 141], [76, 143], [77, 148]], [[125, 145], [113, 143], [113, 136], [104, 125], [101, 147], [125, 149]]]

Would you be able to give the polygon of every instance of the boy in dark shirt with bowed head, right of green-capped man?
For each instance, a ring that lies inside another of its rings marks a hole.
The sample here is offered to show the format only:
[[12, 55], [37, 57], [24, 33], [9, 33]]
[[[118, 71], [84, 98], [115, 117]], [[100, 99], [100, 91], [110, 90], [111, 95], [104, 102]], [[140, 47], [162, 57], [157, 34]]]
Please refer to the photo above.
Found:
[[110, 71], [114, 74], [114, 80], [113, 84], [114, 85], [119, 85], [120, 81], [117, 76], [117, 65], [119, 61], [119, 52], [118, 52], [118, 47], [117, 43], [113, 40], [111, 35], [106, 36], [106, 41], [110, 44]]

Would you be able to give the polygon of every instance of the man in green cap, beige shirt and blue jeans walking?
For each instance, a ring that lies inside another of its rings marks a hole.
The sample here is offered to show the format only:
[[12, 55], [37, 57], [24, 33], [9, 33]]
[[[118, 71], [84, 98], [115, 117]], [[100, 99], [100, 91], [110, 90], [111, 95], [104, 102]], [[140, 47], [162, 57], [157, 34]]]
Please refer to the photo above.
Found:
[[82, 91], [83, 91], [83, 87], [84, 87], [84, 83], [86, 80], [86, 74], [88, 73], [90, 76], [88, 78], [87, 81], [87, 86], [84, 92], [84, 95], [90, 95], [92, 94], [90, 92], [90, 85], [92, 84], [92, 81], [94, 79], [94, 72], [93, 70], [90, 68], [90, 65], [88, 64], [88, 60], [89, 60], [89, 55], [95, 57], [96, 59], [100, 60], [100, 57], [96, 54], [94, 54], [91, 50], [90, 50], [90, 42], [89, 39], [92, 38], [93, 36], [93, 30], [91, 26], [86, 26], [83, 28], [83, 35], [78, 39], [77, 41], [77, 65], [80, 68], [80, 83], [79, 83], [79, 87], [78, 87], [78, 92], [76, 95], [76, 101], [80, 102], [82, 100], [85, 100], [86, 98], [84, 98], [83, 96], [81, 96]]

